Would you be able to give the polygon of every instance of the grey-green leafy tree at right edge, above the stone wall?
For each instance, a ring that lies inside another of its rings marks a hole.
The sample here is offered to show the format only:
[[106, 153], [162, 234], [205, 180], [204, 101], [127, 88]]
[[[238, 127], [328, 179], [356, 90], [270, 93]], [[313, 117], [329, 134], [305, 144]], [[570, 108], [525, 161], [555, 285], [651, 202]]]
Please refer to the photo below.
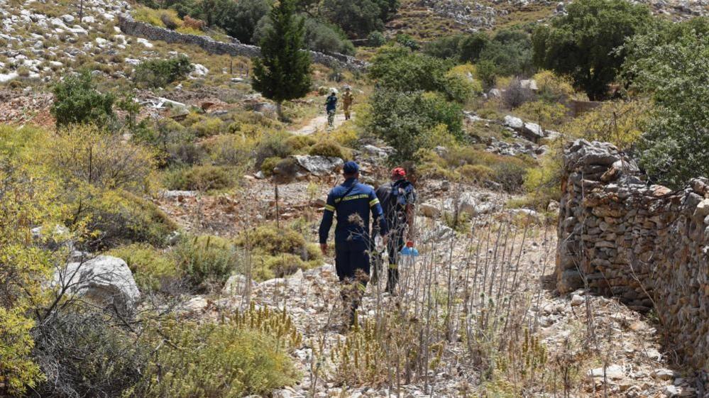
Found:
[[655, 104], [639, 140], [640, 164], [658, 182], [681, 187], [709, 177], [709, 20], [663, 25], [628, 41], [624, 74]]

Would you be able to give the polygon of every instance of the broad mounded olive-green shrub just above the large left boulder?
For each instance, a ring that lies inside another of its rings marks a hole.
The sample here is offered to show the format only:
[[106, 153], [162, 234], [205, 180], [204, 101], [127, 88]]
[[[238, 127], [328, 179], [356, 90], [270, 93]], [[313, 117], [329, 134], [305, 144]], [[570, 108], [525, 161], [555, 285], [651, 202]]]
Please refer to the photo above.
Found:
[[144, 242], [163, 246], [177, 229], [157, 205], [121, 190], [100, 192], [84, 201], [77, 200], [76, 220], [86, 223], [89, 239], [99, 247]]

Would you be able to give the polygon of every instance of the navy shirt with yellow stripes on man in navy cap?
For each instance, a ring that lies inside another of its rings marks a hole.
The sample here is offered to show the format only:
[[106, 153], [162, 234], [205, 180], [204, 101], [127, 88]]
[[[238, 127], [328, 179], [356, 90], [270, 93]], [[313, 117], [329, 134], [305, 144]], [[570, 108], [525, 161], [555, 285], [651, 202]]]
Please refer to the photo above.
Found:
[[379, 220], [380, 233], [385, 235], [388, 232], [387, 222], [372, 187], [360, 184], [355, 178], [349, 178], [334, 187], [327, 195], [327, 204], [320, 223], [320, 243], [327, 242], [335, 212], [337, 212], [335, 243], [350, 240], [368, 241], [370, 211], [374, 219]]

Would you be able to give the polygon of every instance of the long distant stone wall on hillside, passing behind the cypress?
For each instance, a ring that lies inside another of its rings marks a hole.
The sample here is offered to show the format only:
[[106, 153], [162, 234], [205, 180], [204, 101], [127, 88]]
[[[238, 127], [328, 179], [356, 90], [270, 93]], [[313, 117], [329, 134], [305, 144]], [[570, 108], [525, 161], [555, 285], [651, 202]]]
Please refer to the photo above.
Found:
[[[244, 57], [260, 57], [261, 49], [255, 45], [238, 43], [224, 43], [214, 40], [209, 36], [187, 35], [159, 28], [133, 19], [128, 14], [119, 15], [119, 28], [126, 35], [137, 36], [148, 40], [162, 40], [165, 43], [180, 43], [197, 45], [210, 54], [229, 54], [233, 56], [243, 55]], [[328, 67], [341, 67], [348, 70], [364, 70], [368, 66], [367, 62], [357, 60], [342, 54], [323, 54], [322, 52], [310, 51], [313, 62], [326, 65]]]

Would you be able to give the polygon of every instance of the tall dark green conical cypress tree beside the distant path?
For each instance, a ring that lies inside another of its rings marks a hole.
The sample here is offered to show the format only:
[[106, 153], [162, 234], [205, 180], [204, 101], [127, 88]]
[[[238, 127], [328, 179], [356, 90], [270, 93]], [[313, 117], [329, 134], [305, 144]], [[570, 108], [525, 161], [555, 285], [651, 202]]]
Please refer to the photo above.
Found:
[[253, 65], [253, 88], [275, 101], [282, 119], [283, 101], [310, 91], [310, 55], [304, 51], [304, 19], [297, 18], [294, 0], [281, 0], [270, 11], [273, 25], [261, 40], [261, 57]]

